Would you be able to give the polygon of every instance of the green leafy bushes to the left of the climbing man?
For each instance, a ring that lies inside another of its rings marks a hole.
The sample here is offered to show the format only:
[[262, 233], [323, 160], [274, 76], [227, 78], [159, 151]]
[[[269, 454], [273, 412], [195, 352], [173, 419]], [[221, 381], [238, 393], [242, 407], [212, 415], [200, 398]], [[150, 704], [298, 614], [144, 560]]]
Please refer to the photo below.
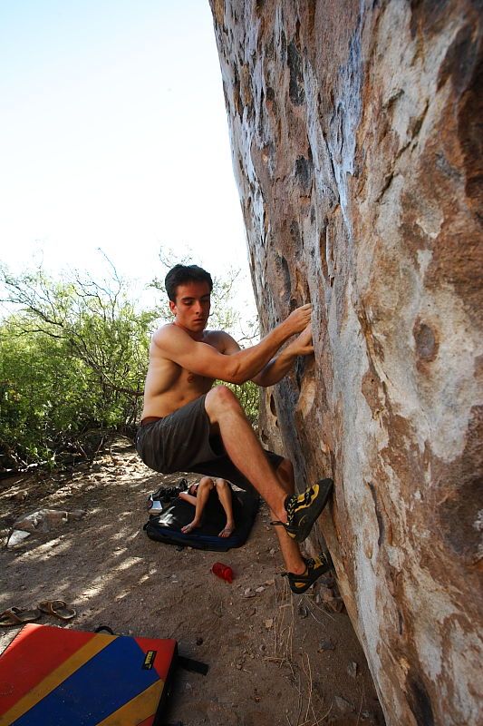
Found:
[[2, 270], [2, 281], [15, 309], [0, 326], [7, 463], [53, 463], [66, 449], [83, 450], [89, 430], [131, 430], [158, 311], [137, 311], [113, 267], [101, 281], [52, 280], [43, 270], [16, 277]]

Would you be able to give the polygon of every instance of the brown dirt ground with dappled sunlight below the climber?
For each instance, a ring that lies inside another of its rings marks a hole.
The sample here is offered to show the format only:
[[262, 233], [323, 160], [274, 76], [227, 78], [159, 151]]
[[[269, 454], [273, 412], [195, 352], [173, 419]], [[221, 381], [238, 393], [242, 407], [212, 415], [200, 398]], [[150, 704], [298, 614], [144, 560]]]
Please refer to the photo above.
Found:
[[[0, 612], [60, 598], [76, 617], [63, 623], [43, 615], [38, 623], [176, 638], [179, 652], [209, 671], [179, 672], [171, 722], [383, 724], [353, 627], [345, 612], [334, 612], [342, 606], [336, 596], [327, 597], [336, 594], [331, 575], [304, 595], [290, 593], [266, 505], [245, 546], [227, 553], [178, 550], [145, 535], [147, 495], [178, 480], [151, 472], [124, 439], [73, 475], [4, 479]], [[86, 514], [6, 548], [14, 521], [41, 507]], [[233, 584], [210, 572], [216, 561], [231, 565]], [[1, 629], [1, 651], [16, 633]]]

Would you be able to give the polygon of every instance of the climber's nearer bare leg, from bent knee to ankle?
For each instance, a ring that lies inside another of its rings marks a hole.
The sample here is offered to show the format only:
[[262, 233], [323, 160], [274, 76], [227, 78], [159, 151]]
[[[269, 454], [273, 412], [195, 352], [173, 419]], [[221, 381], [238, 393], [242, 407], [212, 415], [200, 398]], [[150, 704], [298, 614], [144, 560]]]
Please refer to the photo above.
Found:
[[284, 487], [266, 460], [235, 394], [225, 386], [212, 388], [205, 399], [205, 408], [213, 430], [219, 432], [230, 459], [263, 496], [275, 519], [286, 522]]

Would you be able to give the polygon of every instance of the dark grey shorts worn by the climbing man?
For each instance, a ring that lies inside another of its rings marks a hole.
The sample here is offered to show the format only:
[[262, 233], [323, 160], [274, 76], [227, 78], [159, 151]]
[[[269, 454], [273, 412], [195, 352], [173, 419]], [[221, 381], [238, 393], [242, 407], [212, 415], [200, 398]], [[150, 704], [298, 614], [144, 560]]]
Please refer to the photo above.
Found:
[[[210, 431], [205, 398], [196, 398], [158, 421], [141, 425], [136, 436], [138, 454], [146, 466], [161, 474], [182, 471], [220, 476], [250, 489], [250, 482], [227, 455], [221, 438]], [[283, 461], [283, 456], [271, 451], [265, 454], [274, 468]]]

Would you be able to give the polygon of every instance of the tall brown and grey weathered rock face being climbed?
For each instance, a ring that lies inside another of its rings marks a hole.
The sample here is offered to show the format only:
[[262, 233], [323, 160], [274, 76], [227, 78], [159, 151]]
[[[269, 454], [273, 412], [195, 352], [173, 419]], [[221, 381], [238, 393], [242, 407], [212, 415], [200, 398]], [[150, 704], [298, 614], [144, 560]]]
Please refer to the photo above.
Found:
[[[266, 393], [389, 724], [481, 722], [481, 3], [210, 0]], [[276, 425], [276, 426], [275, 426]]]

